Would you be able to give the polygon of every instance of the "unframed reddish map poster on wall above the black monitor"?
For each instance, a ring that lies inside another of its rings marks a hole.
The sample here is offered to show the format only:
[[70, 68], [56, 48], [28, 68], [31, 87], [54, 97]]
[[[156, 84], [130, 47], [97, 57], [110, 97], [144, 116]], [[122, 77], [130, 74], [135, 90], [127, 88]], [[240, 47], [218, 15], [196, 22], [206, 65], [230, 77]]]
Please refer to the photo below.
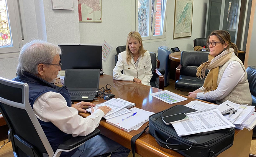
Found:
[[78, 0], [79, 22], [102, 22], [101, 0]]

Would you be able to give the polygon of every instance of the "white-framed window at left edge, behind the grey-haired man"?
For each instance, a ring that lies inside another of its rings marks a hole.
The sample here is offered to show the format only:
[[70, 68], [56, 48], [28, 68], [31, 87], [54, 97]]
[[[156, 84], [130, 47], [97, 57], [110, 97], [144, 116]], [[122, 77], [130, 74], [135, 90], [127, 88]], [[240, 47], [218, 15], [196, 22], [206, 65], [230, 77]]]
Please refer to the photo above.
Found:
[[0, 54], [19, 52], [22, 30], [17, 0], [0, 0]]

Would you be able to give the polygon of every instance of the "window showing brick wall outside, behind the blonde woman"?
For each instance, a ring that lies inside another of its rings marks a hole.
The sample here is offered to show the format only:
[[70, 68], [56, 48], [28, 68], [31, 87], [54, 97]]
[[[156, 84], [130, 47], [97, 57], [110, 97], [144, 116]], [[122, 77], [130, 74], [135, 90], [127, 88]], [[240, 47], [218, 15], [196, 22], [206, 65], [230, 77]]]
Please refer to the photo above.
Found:
[[135, 5], [135, 27], [142, 39], [164, 38], [166, 0], [138, 0]]

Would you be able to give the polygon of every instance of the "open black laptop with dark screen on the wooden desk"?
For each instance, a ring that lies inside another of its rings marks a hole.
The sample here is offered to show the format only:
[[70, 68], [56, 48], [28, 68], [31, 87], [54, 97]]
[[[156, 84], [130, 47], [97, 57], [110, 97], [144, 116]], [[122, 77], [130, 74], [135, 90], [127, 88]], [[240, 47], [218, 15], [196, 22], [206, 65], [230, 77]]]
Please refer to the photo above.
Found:
[[92, 101], [98, 93], [100, 69], [66, 69], [64, 85], [72, 101]]

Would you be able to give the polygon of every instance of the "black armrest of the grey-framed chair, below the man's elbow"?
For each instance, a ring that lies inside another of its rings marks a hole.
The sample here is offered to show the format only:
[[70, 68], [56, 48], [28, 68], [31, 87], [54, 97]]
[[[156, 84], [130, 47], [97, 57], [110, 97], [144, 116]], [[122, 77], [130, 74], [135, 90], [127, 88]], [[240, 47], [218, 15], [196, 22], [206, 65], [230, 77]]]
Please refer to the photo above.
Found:
[[100, 134], [100, 130], [95, 129], [89, 135], [73, 137], [73, 138], [59, 144], [58, 149], [70, 150], [72, 148], [75, 148], [75, 147], [79, 146], [80, 144], [84, 143], [85, 141], [91, 139], [92, 137], [94, 137], [98, 134]]

